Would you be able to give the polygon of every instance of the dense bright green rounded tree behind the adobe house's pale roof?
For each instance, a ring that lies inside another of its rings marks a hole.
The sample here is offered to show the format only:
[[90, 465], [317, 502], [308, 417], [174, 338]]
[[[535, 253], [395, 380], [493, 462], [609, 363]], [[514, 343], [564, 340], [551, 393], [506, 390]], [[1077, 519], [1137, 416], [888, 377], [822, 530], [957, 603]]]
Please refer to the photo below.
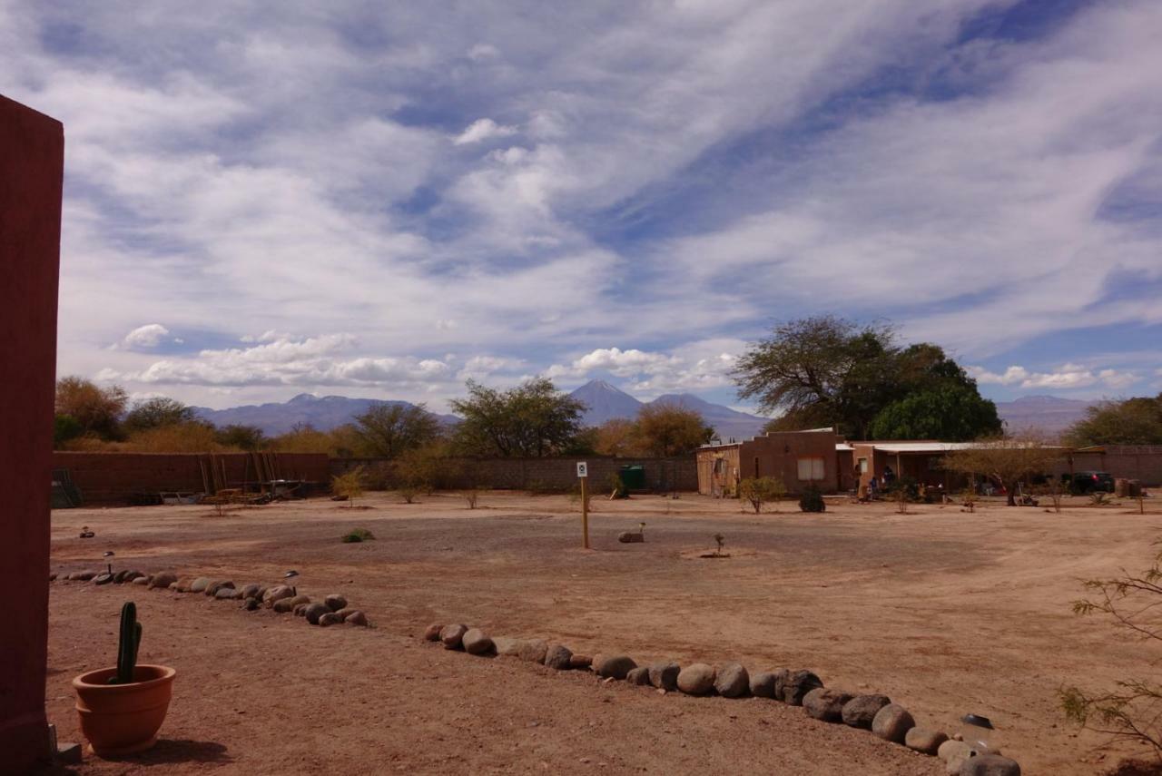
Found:
[[982, 432], [999, 431], [997, 405], [956, 385], [920, 390], [892, 402], [868, 426], [871, 439], [968, 441]]

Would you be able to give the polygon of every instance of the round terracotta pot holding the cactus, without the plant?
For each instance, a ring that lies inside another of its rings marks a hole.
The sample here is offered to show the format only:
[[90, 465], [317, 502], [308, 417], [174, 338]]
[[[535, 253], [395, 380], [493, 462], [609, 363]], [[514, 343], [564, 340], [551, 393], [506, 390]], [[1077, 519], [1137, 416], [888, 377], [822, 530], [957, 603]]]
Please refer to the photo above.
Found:
[[101, 757], [144, 752], [157, 742], [178, 671], [168, 666], [137, 666], [132, 684], [108, 684], [116, 668], [101, 668], [73, 680], [80, 730]]

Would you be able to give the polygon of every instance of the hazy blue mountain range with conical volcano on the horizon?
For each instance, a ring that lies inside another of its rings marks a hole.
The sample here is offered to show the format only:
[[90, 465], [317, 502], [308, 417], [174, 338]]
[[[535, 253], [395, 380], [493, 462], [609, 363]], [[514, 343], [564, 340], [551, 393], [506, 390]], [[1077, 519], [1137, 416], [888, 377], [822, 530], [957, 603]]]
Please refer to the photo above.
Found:
[[[676, 404], [697, 410], [708, 425], [713, 426], [723, 441], [748, 439], [762, 433], [767, 418], [739, 412], [722, 404], [713, 404], [694, 394], [666, 394], [652, 402], [643, 402], [604, 380], [590, 380], [569, 394], [588, 409], [582, 415], [586, 425], [601, 425], [611, 418], [633, 418], [646, 404]], [[1085, 416], [1093, 402], [1056, 396], [1023, 396], [1010, 402], [997, 402], [997, 414], [1009, 430], [1038, 429], [1056, 434]], [[230, 424], [258, 426], [271, 436], [286, 433], [296, 425], [311, 425], [321, 431], [350, 423], [357, 415], [374, 404], [409, 404], [403, 401], [378, 398], [347, 398], [346, 396], [313, 396], [299, 394], [287, 402], [248, 404], [224, 410], [194, 408], [198, 416], [223, 426]], [[437, 415], [442, 423], [452, 425], [454, 415]]]

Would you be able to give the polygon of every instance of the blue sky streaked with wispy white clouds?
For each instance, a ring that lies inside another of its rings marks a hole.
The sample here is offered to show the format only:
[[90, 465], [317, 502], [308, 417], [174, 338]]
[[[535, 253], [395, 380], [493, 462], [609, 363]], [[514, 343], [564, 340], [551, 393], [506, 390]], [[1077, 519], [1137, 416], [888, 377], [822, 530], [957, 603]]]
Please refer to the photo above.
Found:
[[608, 379], [781, 321], [1162, 390], [1162, 2], [0, 0], [64, 122], [58, 373], [213, 407]]

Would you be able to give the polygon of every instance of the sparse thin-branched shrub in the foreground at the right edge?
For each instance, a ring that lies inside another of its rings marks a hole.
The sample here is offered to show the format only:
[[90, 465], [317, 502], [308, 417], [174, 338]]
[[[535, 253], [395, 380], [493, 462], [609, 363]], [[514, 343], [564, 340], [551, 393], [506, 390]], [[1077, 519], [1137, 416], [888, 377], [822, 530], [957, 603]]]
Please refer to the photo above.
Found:
[[[1155, 543], [1157, 546], [1159, 543]], [[1162, 552], [1139, 574], [1089, 580], [1089, 596], [1074, 602], [1079, 616], [1109, 617], [1114, 626], [1155, 647], [1162, 641]], [[1153, 678], [1126, 678], [1106, 691], [1069, 685], [1059, 690], [1066, 716], [1113, 740], [1145, 743], [1162, 760], [1162, 684]]]

